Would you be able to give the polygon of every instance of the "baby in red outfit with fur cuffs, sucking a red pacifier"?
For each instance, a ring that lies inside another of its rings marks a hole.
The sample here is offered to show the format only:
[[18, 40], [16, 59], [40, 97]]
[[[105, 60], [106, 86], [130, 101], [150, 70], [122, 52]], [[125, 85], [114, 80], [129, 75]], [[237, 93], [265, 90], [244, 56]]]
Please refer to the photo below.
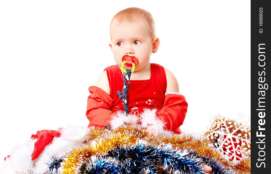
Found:
[[[179, 93], [174, 74], [161, 65], [150, 64], [151, 54], [160, 44], [152, 15], [140, 8], [118, 12], [110, 23], [110, 38], [109, 47], [117, 65], [105, 68], [96, 85], [89, 87], [88, 126], [117, 128], [140, 123], [154, 135], [181, 133], [179, 127], [188, 104]], [[128, 115], [122, 113], [125, 106], [117, 94], [123, 89], [125, 69], [132, 69], [124, 97]]]

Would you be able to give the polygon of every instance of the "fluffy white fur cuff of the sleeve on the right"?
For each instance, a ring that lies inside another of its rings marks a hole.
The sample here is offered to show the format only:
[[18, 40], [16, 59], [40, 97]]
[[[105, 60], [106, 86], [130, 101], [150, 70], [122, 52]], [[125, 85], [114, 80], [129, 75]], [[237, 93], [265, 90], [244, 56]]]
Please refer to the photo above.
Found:
[[141, 116], [141, 126], [153, 135], [172, 135], [172, 132], [164, 130], [165, 123], [156, 116], [156, 109], [144, 109]]

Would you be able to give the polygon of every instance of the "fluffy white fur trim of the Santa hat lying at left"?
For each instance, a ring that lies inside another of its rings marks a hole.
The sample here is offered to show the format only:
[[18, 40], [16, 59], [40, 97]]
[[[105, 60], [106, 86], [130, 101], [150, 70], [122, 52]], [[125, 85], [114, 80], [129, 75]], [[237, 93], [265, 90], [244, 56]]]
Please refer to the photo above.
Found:
[[17, 174], [26, 171], [35, 171], [43, 173], [48, 169], [45, 164], [49, 158], [56, 154], [62, 155], [74, 147], [81, 145], [89, 135], [89, 128], [83, 126], [67, 126], [60, 131], [60, 137], [48, 144], [39, 157], [32, 161], [32, 152], [34, 143], [37, 139], [29, 139], [23, 144], [16, 146], [10, 153], [10, 157], [3, 163], [0, 168], [2, 174]]

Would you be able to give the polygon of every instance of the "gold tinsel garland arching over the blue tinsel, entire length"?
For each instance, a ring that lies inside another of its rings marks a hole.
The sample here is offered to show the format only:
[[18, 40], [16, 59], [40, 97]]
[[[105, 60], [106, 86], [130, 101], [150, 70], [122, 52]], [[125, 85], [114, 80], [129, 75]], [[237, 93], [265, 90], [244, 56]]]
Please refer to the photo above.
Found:
[[72, 150], [64, 159], [62, 164], [63, 174], [77, 173], [82, 162], [87, 158], [93, 155], [106, 154], [116, 146], [135, 145], [138, 139], [157, 146], [161, 143], [170, 143], [178, 149], [191, 149], [198, 155], [215, 158], [225, 167], [230, 167], [238, 173], [245, 174], [245, 172], [250, 171], [250, 160], [241, 160], [238, 164], [225, 160], [218, 151], [210, 147], [209, 139], [185, 134], [155, 137], [140, 128], [122, 126], [112, 131], [91, 128], [87, 141]]

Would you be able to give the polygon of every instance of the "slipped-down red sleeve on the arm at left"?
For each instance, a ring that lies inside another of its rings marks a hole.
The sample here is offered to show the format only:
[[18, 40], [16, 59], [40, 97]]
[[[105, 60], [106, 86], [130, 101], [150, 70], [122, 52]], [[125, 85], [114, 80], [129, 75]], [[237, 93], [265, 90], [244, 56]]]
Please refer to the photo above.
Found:
[[109, 124], [110, 116], [113, 113], [110, 110], [113, 99], [104, 90], [96, 86], [90, 86], [88, 90], [90, 92], [86, 112], [90, 121], [88, 127], [104, 128], [104, 124]]

